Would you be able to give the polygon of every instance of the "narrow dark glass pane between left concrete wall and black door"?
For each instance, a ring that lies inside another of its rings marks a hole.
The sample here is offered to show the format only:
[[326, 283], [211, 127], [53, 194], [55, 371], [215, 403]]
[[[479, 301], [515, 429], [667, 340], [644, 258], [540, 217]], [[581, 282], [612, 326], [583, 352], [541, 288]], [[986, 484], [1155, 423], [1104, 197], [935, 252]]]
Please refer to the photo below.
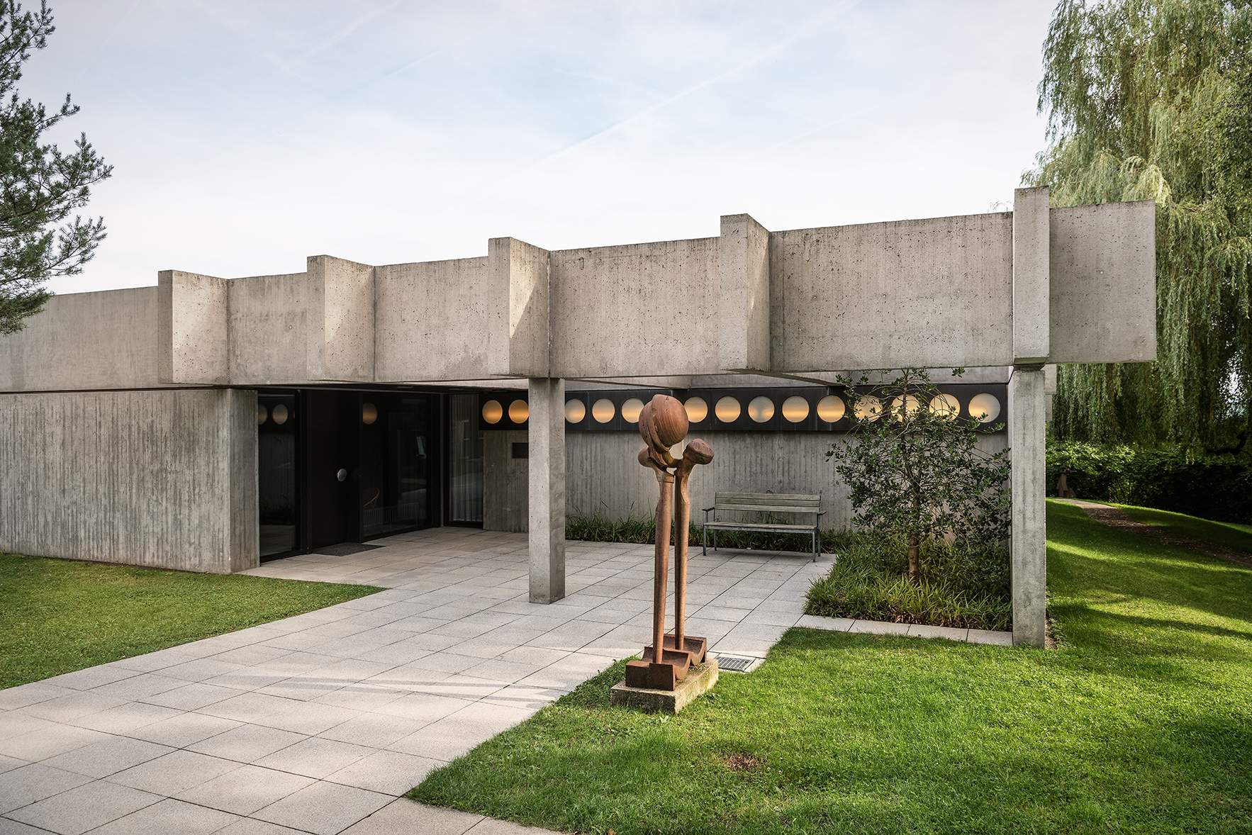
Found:
[[257, 503], [260, 557], [294, 551], [299, 503], [295, 394], [257, 394]]

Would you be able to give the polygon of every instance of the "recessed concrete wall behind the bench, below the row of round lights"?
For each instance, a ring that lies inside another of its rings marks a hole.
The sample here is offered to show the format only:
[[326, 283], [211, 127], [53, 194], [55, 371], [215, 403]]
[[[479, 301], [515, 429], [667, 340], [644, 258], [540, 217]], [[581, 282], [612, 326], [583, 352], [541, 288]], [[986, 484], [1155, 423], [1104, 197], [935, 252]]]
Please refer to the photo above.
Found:
[[[695, 437], [695, 433], [692, 436]], [[568, 516], [651, 516], [656, 478], [639, 464], [642, 446], [635, 432], [567, 432], [566, 513]], [[848, 488], [826, 461], [831, 443], [848, 436], [830, 432], [709, 432], [714, 461], [691, 476], [691, 518], [712, 505], [716, 491], [821, 493], [823, 527], [851, 523]], [[526, 530], [526, 461], [510, 458], [511, 443], [525, 431], [483, 433], [483, 527]], [[985, 452], [1008, 446], [1004, 432], [979, 438]]]

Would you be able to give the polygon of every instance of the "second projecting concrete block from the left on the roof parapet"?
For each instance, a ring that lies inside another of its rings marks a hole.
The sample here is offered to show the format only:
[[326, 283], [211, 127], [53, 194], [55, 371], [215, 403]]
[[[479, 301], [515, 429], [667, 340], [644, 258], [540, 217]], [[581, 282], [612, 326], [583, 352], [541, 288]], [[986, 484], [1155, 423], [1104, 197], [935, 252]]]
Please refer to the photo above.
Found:
[[308, 378], [373, 382], [374, 268], [334, 258], [308, 258]]

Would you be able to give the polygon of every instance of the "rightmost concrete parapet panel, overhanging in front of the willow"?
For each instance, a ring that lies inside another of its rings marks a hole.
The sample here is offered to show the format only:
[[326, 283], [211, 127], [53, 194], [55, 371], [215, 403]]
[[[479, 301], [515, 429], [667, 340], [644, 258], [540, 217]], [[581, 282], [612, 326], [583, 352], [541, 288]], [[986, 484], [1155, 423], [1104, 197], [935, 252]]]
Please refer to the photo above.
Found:
[[1053, 209], [1049, 362], [1157, 358], [1156, 204]]

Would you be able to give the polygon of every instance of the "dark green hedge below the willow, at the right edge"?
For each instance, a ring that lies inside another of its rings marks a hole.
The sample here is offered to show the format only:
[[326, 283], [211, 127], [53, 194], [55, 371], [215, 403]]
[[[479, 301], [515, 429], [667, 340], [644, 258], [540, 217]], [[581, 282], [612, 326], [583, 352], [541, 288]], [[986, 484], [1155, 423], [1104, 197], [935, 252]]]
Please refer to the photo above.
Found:
[[1065, 473], [1079, 498], [1252, 522], [1252, 459], [1078, 441], [1048, 443], [1048, 493]]

